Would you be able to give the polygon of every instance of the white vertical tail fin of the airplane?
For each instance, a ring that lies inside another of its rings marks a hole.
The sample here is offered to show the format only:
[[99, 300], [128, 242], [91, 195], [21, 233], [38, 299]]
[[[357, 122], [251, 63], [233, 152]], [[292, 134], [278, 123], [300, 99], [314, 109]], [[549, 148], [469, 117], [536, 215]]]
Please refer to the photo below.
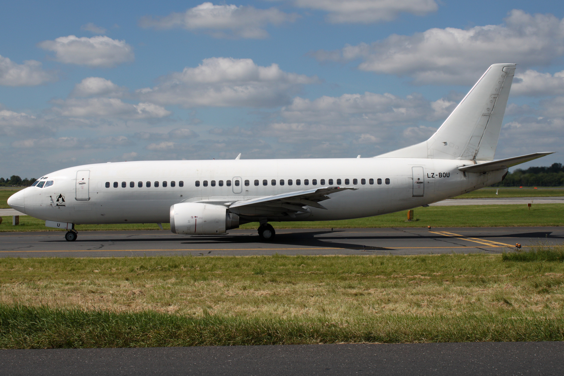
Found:
[[430, 139], [377, 157], [493, 161], [515, 65], [491, 65]]

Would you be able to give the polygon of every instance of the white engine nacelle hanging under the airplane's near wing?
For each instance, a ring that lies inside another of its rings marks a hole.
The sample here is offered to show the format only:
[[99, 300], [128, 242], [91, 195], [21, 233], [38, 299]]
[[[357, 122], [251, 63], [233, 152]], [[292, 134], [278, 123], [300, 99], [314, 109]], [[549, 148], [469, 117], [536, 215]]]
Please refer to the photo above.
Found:
[[181, 202], [170, 207], [170, 231], [187, 235], [220, 235], [239, 227], [239, 216], [225, 206]]

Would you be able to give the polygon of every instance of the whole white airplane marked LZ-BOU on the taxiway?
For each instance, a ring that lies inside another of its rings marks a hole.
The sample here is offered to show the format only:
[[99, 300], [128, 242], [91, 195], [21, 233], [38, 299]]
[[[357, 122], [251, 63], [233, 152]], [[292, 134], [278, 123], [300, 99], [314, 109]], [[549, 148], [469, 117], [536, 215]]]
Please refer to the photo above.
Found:
[[[136, 161], [51, 172], [8, 205], [65, 228], [170, 222], [177, 234], [221, 235], [259, 222], [362, 218], [501, 182], [508, 167], [551, 152], [493, 160], [515, 64], [493, 64], [430, 139], [372, 158]], [[323, 204], [322, 204], [323, 203]]]

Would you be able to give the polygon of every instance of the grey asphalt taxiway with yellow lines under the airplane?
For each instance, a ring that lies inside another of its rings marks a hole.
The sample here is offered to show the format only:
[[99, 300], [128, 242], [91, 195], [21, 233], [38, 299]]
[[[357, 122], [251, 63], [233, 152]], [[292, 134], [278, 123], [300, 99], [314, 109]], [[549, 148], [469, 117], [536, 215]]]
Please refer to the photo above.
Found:
[[272, 242], [261, 241], [254, 229], [221, 236], [82, 231], [74, 242], [65, 241], [62, 231], [3, 232], [0, 257], [495, 254], [517, 243], [564, 244], [564, 227], [279, 229]]

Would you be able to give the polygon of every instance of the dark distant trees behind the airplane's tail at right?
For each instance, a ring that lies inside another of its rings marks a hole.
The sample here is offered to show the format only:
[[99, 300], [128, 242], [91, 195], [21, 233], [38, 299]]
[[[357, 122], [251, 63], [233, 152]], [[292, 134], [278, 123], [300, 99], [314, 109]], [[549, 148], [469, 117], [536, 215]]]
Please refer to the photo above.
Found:
[[517, 169], [505, 176], [501, 183], [493, 187], [561, 187], [564, 185], [562, 163], [552, 163], [549, 167], [529, 167]]

